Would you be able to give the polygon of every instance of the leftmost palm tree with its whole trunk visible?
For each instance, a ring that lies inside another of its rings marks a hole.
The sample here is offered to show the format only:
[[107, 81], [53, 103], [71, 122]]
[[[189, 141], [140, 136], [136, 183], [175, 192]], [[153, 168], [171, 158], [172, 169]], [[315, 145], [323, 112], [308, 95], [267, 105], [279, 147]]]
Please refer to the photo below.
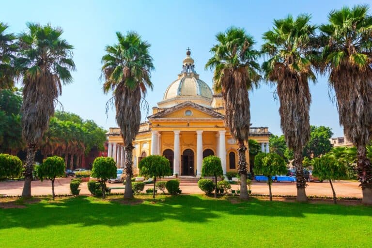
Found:
[[27, 145], [27, 160], [22, 196], [25, 197], [31, 196], [35, 152], [54, 114], [62, 83], [72, 82], [70, 70], [75, 69], [73, 46], [61, 39], [61, 28], [34, 23], [28, 23], [27, 27], [28, 31], [18, 37], [20, 50], [15, 61], [24, 85], [22, 136]]

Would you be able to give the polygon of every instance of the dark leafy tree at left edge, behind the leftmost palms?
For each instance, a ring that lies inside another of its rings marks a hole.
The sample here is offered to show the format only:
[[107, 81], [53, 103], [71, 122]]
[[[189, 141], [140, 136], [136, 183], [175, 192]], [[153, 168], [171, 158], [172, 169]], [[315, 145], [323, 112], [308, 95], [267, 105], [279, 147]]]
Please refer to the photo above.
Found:
[[16, 90], [0, 90], [0, 152], [22, 149], [22, 96]]

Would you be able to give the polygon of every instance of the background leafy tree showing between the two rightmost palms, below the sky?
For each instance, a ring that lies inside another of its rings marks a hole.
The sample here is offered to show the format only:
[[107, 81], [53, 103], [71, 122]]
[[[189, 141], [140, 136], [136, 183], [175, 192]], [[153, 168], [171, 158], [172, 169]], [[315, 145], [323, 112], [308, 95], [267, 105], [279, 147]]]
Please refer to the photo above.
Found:
[[329, 140], [333, 133], [331, 128], [325, 126], [310, 126], [310, 140], [304, 147], [304, 155], [319, 157], [331, 151], [332, 144]]

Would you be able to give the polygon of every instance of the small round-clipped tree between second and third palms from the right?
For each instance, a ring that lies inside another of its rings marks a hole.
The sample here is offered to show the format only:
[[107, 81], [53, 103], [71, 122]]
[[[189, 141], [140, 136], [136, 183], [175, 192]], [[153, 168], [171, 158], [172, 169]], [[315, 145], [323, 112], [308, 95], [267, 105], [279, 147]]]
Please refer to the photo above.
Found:
[[258, 175], [267, 176], [267, 185], [269, 186], [270, 201], [273, 201], [271, 193], [271, 184], [273, 183], [272, 176], [285, 174], [287, 167], [285, 166], [284, 159], [276, 153], [261, 153], [260, 156], [255, 158], [254, 171]]

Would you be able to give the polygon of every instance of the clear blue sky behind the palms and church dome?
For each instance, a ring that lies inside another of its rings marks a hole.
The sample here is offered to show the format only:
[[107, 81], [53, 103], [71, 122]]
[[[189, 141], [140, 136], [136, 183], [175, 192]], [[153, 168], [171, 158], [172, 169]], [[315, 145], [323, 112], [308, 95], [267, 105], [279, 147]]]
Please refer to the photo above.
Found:
[[[195, 69], [200, 78], [212, 86], [212, 72], [204, 71], [210, 58], [209, 49], [215, 44], [215, 34], [230, 26], [243, 27], [262, 44], [262, 33], [272, 27], [274, 18], [288, 14], [310, 13], [312, 22], [324, 23], [331, 9], [344, 5], [365, 3], [354, 0], [153, 0], [153, 1], [4, 1], [0, 21], [10, 31], [24, 31], [26, 22], [60, 26], [63, 38], [74, 45], [73, 84], [64, 86], [60, 101], [65, 111], [77, 113], [84, 119], [93, 119], [108, 128], [116, 126], [115, 112], [105, 114], [105, 103], [110, 95], [102, 92], [99, 80], [104, 47], [116, 42], [116, 31], [138, 31], [152, 44], [155, 71], [152, 74], [154, 91], [149, 92], [150, 106], [163, 97], [167, 86], [182, 69], [186, 48], [191, 48]], [[274, 134], [281, 134], [279, 102], [274, 100], [274, 88], [262, 85], [249, 94], [252, 126], [268, 126]], [[332, 128], [334, 136], [343, 136], [336, 104], [328, 96], [327, 78], [318, 77], [310, 87], [312, 104], [310, 124]], [[333, 96], [334, 93], [331, 92]], [[142, 120], [144, 120], [142, 114]]]

